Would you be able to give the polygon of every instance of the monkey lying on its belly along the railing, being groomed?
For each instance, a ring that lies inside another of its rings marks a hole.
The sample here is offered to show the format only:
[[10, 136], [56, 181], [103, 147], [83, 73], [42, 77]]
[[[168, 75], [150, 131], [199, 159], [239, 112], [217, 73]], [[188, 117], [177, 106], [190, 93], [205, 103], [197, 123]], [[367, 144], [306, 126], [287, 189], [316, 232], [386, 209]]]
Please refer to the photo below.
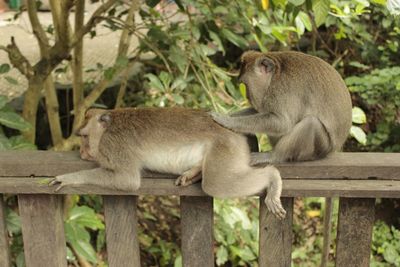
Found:
[[[88, 156], [98, 168], [56, 176], [56, 191], [90, 184], [134, 192], [143, 169], [179, 175], [175, 184], [200, 180], [213, 197], [243, 197], [267, 189], [265, 204], [277, 218], [285, 217], [282, 180], [272, 165], [249, 165], [244, 136], [215, 123], [202, 110], [186, 108], [121, 108], [88, 110], [78, 135], [85, 137]], [[200, 175], [202, 174], [202, 175]]]

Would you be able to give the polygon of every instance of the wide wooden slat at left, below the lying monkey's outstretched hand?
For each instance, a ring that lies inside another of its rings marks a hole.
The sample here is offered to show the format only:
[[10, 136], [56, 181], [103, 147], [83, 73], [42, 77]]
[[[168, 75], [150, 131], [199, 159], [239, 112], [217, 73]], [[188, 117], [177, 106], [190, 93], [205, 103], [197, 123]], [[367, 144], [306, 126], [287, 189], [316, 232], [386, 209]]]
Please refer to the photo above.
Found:
[[19, 195], [27, 267], [67, 266], [62, 196]]

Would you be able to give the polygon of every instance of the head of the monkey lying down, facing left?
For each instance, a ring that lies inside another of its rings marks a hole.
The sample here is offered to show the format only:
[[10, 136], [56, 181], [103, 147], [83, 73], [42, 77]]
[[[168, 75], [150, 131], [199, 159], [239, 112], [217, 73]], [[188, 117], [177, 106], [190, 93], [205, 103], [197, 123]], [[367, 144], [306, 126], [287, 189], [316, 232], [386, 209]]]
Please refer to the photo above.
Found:
[[110, 121], [111, 116], [107, 110], [89, 109], [86, 111], [83, 125], [76, 132], [76, 135], [81, 137], [80, 155], [82, 159], [95, 161], [98, 158], [100, 139]]

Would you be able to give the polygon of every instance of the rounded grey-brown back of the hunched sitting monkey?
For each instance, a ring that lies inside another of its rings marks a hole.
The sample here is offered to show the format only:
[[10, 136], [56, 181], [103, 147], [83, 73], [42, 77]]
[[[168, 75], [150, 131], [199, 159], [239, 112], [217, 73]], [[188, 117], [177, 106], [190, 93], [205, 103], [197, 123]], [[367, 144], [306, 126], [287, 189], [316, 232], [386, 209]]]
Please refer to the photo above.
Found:
[[291, 99], [297, 103], [283, 103], [288, 112], [294, 117], [301, 114], [298, 120], [309, 115], [319, 118], [331, 135], [334, 148], [340, 149], [349, 134], [352, 109], [349, 90], [340, 74], [324, 60], [304, 53], [266, 55], [278, 63], [270, 89], [295, 96]]

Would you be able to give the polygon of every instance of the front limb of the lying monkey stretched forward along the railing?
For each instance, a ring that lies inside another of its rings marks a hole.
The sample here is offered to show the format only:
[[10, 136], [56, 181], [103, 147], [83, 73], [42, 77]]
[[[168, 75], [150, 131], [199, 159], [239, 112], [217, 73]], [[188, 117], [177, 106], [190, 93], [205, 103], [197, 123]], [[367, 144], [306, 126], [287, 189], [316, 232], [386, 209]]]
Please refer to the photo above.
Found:
[[49, 185], [58, 185], [55, 191], [61, 190], [64, 186], [79, 185], [93, 185], [122, 191], [135, 191], [140, 186], [140, 171], [139, 169], [132, 168], [129, 172], [114, 172], [103, 168], [96, 168], [58, 175], [50, 181]]

